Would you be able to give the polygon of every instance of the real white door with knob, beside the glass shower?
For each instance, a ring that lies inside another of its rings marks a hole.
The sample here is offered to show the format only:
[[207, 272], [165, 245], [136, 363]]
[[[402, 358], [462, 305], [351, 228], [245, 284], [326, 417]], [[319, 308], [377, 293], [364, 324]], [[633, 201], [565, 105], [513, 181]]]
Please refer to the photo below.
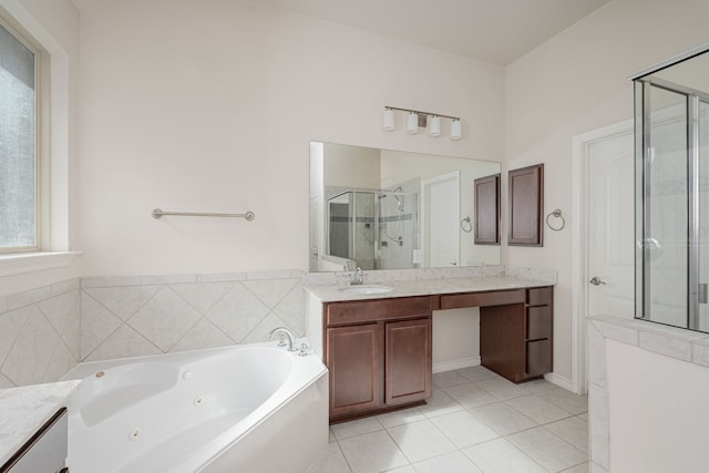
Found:
[[574, 138], [572, 389], [587, 392], [586, 317], [635, 312], [633, 122]]

